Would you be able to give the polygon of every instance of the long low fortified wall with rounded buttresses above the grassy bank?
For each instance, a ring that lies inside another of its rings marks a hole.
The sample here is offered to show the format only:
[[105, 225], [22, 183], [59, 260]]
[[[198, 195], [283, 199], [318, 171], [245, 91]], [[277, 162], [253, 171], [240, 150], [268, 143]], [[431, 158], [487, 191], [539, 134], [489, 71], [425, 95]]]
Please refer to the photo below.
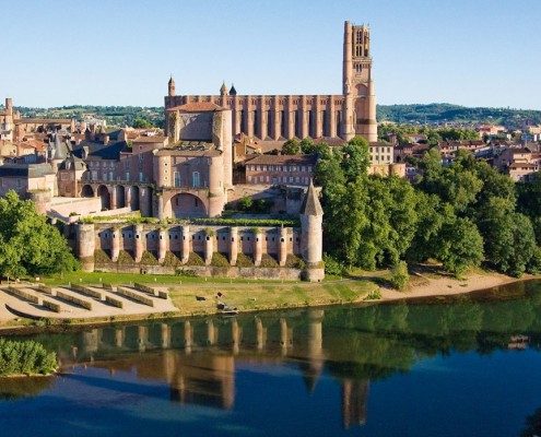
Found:
[[320, 281], [321, 245], [297, 227], [77, 224], [85, 271]]

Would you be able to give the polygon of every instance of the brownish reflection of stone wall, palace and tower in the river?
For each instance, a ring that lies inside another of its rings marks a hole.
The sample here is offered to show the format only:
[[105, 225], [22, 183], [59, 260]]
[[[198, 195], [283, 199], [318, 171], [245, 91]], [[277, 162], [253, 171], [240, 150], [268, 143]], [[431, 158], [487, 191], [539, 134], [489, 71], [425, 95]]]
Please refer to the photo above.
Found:
[[[71, 352], [58, 354], [63, 366], [92, 363], [110, 373], [131, 371], [142, 380], [166, 381], [174, 402], [232, 409], [239, 366], [291, 365], [301, 370], [309, 395], [316, 395], [326, 363], [341, 357], [334, 356], [331, 344], [326, 347], [325, 311], [309, 309], [307, 316], [260, 315], [95, 328], [82, 332]], [[364, 424], [368, 380], [350, 376], [337, 379], [344, 428]]]

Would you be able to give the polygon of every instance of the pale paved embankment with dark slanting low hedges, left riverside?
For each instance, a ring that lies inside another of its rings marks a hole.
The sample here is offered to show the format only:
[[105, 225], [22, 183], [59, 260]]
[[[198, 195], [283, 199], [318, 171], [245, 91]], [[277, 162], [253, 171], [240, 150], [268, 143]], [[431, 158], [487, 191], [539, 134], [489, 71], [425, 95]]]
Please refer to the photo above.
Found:
[[0, 318], [93, 319], [177, 311], [168, 293], [145, 285], [0, 286]]

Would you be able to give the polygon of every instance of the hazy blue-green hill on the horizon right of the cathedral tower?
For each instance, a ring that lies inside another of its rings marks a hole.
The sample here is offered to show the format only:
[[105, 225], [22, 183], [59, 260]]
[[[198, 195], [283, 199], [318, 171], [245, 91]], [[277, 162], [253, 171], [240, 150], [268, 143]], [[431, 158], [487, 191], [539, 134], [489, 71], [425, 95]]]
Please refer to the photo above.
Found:
[[541, 123], [541, 110], [510, 108], [469, 108], [448, 103], [428, 105], [378, 105], [378, 121], [401, 123], [440, 125], [456, 122], [464, 125], [495, 123], [510, 129], [520, 129], [525, 125]]

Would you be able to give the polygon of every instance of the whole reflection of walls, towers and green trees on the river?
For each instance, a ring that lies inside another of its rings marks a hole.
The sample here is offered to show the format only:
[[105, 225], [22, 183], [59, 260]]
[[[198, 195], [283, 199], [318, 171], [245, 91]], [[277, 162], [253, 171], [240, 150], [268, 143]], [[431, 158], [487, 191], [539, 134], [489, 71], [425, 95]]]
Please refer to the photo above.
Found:
[[165, 382], [173, 403], [224, 411], [235, 410], [238, 397], [247, 394], [238, 388], [246, 369], [293, 369], [313, 399], [325, 395], [316, 388], [330, 377], [339, 385], [339, 397], [329, 411], [341, 415], [336, 420], [349, 429], [369, 423], [371, 386], [405, 374], [428, 357], [538, 350], [539, 291], [540, 285], [530, 283], [502, 287], [495, 300], [483, 295], [456, 297], [446, 305], [432, 300], [168, 320], [37, 340], [57, 351], [73, 378], [82, 378], [81, 366], [114, 376], [131, 373], [140, 381]]

